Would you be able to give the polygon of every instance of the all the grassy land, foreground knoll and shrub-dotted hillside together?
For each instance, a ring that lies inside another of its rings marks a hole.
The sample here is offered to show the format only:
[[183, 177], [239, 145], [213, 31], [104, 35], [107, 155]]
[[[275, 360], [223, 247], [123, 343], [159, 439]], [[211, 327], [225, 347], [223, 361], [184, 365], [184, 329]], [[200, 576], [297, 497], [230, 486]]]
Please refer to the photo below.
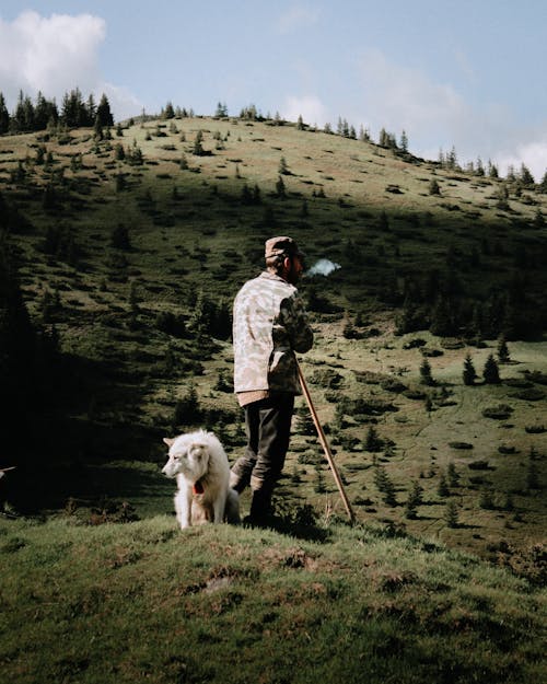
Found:
[[[0, 200], [2, 306], [35, 329], [2, 338], [9, 681], [540, 680], [547, 195], [186, 117], [0, 137]], [[301, 364], [358, 524], [299, 399], [278, 529], [182, 534], [162, 438], [242, 449], [230, 309], [272, 234], [340, 266], [302, 282]]]

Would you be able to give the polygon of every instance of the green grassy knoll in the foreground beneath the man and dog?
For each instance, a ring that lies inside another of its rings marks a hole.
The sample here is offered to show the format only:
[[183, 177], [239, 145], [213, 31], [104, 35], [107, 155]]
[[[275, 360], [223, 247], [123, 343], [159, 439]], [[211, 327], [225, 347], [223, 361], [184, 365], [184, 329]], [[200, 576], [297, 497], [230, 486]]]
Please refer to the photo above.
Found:
[[[2, 679], [532, 682], [545, 595], [381, 529], [0, 521]], [[230, 675], [226, 674], [230, 669]]]

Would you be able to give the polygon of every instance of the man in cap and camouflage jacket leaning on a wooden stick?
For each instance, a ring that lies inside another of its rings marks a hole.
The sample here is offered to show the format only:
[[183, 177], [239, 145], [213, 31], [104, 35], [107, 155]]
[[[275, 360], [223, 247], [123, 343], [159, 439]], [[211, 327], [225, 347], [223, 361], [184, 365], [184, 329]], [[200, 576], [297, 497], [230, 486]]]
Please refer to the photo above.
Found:
[[296, 357], [313, 345], [295, 288], [303, 254], [287, 236], [266, 241], [266, 270], [247, 281], [234, 301], [234, 390], [245, 410], [247, 447], [232, 467], [231, 486], [253, 490], [249, 521], [267, 521], [271, 494], [289, 448], [294, 396], [300, 394]]

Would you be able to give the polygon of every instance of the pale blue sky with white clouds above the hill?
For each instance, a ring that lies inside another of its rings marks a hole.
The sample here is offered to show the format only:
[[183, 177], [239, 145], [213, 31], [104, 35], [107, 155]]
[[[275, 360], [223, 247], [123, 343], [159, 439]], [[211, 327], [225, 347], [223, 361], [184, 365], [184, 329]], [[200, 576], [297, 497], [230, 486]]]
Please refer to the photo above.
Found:
[[0, 0], [0, 92], [105, 93], [116, 120], [167, 102], [255, 105], [504, 175], [547, 171], [547, 0]]

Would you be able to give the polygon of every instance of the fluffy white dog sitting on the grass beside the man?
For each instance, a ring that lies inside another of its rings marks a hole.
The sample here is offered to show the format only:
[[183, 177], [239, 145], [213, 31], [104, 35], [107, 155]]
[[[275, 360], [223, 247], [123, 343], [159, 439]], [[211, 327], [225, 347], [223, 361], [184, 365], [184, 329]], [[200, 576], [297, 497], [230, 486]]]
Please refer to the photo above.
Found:
[[240, 497], [231, 489], [230, 465], [219, 440], [212, 432], [199, 430], [164, 438], [170, 448], [163, 467], [167, 477], [176, 477], [176, 519], [182, 529], [191, 524], [240, 522]]

